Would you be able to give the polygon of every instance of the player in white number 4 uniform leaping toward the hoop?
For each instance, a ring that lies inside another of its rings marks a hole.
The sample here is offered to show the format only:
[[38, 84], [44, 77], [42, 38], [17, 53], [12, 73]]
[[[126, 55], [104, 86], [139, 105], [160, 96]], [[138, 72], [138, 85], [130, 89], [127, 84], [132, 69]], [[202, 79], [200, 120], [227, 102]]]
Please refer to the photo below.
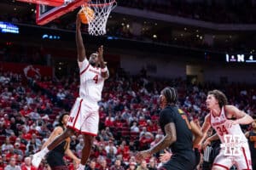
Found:
[[80, 70], [79, 98], [76, 99], [67, 122], [67, 129], [55, 138], [47, 147], [36, 153], [32, 158], [32, 165], [38, 167], [43, 157], [53, 150], [62, 141], [73, 135], [74, 132], [84, 135], [84, 148], [81, 163], [78, 169], [84, 170], [86, 161], [90, 156], [90, 149], [94, 136], [98, 133], [99, 106], [97, 102], [102, 98], [104, 81], [109, 77], [108, 68], [103, 60], [103, 46], [98, 48], [90, 59], [86, 59], [83, 38], [81, 34], [81, 20], [79, 14], [76, 20], [76, 43]]

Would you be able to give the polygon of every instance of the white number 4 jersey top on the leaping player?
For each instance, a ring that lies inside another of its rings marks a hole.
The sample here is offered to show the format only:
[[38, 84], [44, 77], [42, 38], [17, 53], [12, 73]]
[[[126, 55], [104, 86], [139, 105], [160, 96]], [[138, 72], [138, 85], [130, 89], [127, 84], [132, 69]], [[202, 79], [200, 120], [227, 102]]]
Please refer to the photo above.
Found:
[[90, 65], [88, 59], [79, 62], [80, 88], [79, 96], [92, 102], [102, 99], [102, 88], [105, 79], [101, 76], [101, 69]]

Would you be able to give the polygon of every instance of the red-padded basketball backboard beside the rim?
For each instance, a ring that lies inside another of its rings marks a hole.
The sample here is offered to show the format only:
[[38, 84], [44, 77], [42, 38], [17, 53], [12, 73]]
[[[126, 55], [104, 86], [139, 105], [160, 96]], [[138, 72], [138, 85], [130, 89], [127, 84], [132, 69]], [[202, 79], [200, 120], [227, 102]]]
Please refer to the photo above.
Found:
[[[64, 0], [60, 6], [55, 7], [53, 3], [51, 4], [37, 4], [37, 14], [36, 21], [37, 24], [42, 26], [61, 17], [63, 14], [73, 11], [79, 8], [84, 3], [89, 0]], [[54, 1], [53, 1], [54, 2]]]

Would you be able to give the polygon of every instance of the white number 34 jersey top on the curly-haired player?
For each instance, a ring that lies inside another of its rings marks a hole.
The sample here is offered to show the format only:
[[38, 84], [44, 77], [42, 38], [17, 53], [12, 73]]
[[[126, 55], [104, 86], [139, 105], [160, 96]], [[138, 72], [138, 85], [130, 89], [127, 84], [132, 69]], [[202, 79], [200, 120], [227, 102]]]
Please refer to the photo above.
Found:
[[241, 143], [245, 142], [247, 143], [247, 139], [241, 131], [241, 127], [239, 124], [232, 125], [230, 128], [227, 127], [226, 122], [228, 119], [225, 116], [224, 113], [224, 107], [221, 109], [221, 112], [219, 116], [213, 116], [212, 112], [210, 113], [210, 122], [212, 127], [215, 129], [215, 131], [218, 133], [218, 137], [221, 140], [222, 143], [225, 142], [224, 135], [230, 134], [230, 135], [239, 135], [241, 137], [240, 141]]

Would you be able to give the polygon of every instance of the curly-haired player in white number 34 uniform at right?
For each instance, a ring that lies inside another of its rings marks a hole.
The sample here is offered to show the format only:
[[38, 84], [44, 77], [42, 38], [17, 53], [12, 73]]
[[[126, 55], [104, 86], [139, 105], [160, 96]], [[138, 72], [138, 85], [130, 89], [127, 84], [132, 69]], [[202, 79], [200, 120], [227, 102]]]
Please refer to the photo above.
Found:
[[[252, 123], [253, 118], [235, 106], [227, 105], [226, 96], [219, 90], [208, 92], [207, 108], [210, 110], [210, 113], [205, 117], [202, 132], [206, 134], [212, 126], [218, 135], [209, 137], [205, 145], [211, 142], [211, 140], [218, 138], [222, 144], [227, 144], [225, 140], [225, 135], [227, 134], [239, 135], [240, 141], [237, 145], [241, 145], [241, 148], [239, 148], [241, 155], [239, 156], [227, 155], [224, 150], [225, 148], [222, 148], [213, 162], [212, 170], [229, 170], [233, 164], [236, 164], [238, 170], [252, 170], [249, 146], [239, 124]], [[236, 118], [236, 120], [231, 120], [233, 118]]]

